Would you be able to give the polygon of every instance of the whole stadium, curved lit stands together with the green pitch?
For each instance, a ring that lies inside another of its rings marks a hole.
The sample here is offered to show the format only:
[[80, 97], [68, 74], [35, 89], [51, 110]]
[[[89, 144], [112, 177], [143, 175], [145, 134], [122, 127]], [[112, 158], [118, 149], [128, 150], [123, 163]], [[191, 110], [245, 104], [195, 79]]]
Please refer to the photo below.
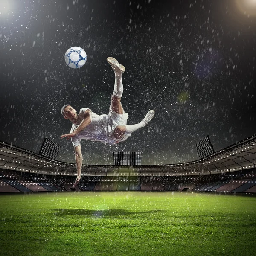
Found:
[[75, 164], [1, 142], [1, 255], [253, 253], [255, 136], [188, 163], [118, 157], [71, 191]]

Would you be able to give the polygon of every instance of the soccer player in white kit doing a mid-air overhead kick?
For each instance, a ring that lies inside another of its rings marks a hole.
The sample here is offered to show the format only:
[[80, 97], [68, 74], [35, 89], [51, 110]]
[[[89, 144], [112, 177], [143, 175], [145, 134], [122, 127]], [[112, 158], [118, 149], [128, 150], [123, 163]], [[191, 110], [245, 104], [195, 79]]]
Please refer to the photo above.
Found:
[[107, 58], [115, 73], [114, 92], [111, 97], [111, 105], [108, 115], [97, 115], [89, 108], [81, 108], [79, 114], [70, 105], [61, 108], [61, 114], [65, 119], [70, 120], [73, 125], [69, 134], [61, 135], [61, 138], [71, 139], [75, 148], [77, 178], [73, 188], [81, 179], [82, 152], [81, 139], [101, 141], [111, 145], [125, 141], [131, 133], [144, 127], [154, 117], [154, 110], [148, 111], [145, 118], [135, 125], [127, 125], [128, 113], [122, 108], [121, 97], [123, 93], [122, 73], [125, 67], [112, 57]]

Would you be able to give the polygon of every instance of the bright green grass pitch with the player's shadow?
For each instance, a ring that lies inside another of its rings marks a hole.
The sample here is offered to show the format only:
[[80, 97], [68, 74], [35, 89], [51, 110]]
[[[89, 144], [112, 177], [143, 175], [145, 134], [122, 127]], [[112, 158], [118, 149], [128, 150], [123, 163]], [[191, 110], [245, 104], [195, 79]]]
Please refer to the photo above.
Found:
[[255, 252], [256, 197], [191, 192], [0, 195], [1, 256]]

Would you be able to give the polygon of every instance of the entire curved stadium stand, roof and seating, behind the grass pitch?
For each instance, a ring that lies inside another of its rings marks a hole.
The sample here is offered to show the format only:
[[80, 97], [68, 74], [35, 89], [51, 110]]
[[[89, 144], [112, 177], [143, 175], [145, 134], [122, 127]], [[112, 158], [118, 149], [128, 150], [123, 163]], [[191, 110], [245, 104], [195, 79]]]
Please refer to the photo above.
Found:
[[[76, 191], [256, 193], [256, 137], [189, 163], [153, 166], [83, 165]], [[0, 142], [0, 192], [71, 191], [76, 164]]]

